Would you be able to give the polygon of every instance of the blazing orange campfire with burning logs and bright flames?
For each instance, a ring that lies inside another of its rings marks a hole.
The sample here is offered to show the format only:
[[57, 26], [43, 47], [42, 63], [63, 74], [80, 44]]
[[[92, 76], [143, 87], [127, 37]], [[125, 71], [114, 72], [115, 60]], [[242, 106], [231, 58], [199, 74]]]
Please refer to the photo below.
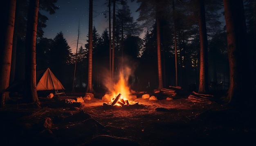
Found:
[[[127, 71], [126, 71], [127, 72]], [[109, 92], [102, 97], [102, 100], [107, 102], [103, 106], [129, 106], [138, 104], [134, 100], [136, 95], [132, 95], [130, 86], [128, 86], [128, 75], [120, 73], [119, 80], [113, 86], [108, 87]]]

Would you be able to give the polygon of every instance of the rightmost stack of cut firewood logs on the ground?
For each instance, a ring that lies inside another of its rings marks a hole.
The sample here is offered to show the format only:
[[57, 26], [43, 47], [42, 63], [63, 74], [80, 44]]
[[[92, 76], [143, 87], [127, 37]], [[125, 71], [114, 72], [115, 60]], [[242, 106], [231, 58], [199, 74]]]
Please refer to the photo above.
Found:
[[189, 100], [191, 100], [192, 102], [207, 102], [209, 104], [216, 101], [213, 95], [196, 93], [195, 91], [193, 91], [192, 94], [189, 95]]

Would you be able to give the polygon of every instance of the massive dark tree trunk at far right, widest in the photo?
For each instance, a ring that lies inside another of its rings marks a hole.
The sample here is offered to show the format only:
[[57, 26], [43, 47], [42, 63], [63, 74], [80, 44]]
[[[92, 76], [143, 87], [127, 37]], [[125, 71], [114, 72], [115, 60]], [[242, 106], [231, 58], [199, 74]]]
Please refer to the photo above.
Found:
[[246, 24], [243, 0], [223, 0], [227, 27], [229, 89], [224, 101], [244, 102], [252, 93], [247, 60]]

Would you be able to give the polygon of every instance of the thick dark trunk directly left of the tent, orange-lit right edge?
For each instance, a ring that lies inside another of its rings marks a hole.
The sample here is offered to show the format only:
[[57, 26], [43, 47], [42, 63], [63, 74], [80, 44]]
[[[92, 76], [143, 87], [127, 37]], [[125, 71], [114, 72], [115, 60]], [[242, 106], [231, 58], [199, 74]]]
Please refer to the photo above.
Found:
[[40, 108], [36, 91], [36, 31], [38, 24], [39, 0], [29, 1], [26, 34], [25, 98]]

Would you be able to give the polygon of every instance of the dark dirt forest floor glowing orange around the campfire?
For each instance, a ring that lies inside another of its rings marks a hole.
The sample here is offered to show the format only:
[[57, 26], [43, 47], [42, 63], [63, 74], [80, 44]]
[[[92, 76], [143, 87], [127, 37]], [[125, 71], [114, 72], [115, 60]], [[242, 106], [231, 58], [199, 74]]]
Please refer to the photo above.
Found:
[[[68, 95], [68, 94], [67, 94]], [[187, 95], [103, 106], [103, 94], [66, 104], [81, 95], [40, 97], [41, 108], [14, 102], [0, 109], [3, 145], [255, 145], [255, 112]]]

